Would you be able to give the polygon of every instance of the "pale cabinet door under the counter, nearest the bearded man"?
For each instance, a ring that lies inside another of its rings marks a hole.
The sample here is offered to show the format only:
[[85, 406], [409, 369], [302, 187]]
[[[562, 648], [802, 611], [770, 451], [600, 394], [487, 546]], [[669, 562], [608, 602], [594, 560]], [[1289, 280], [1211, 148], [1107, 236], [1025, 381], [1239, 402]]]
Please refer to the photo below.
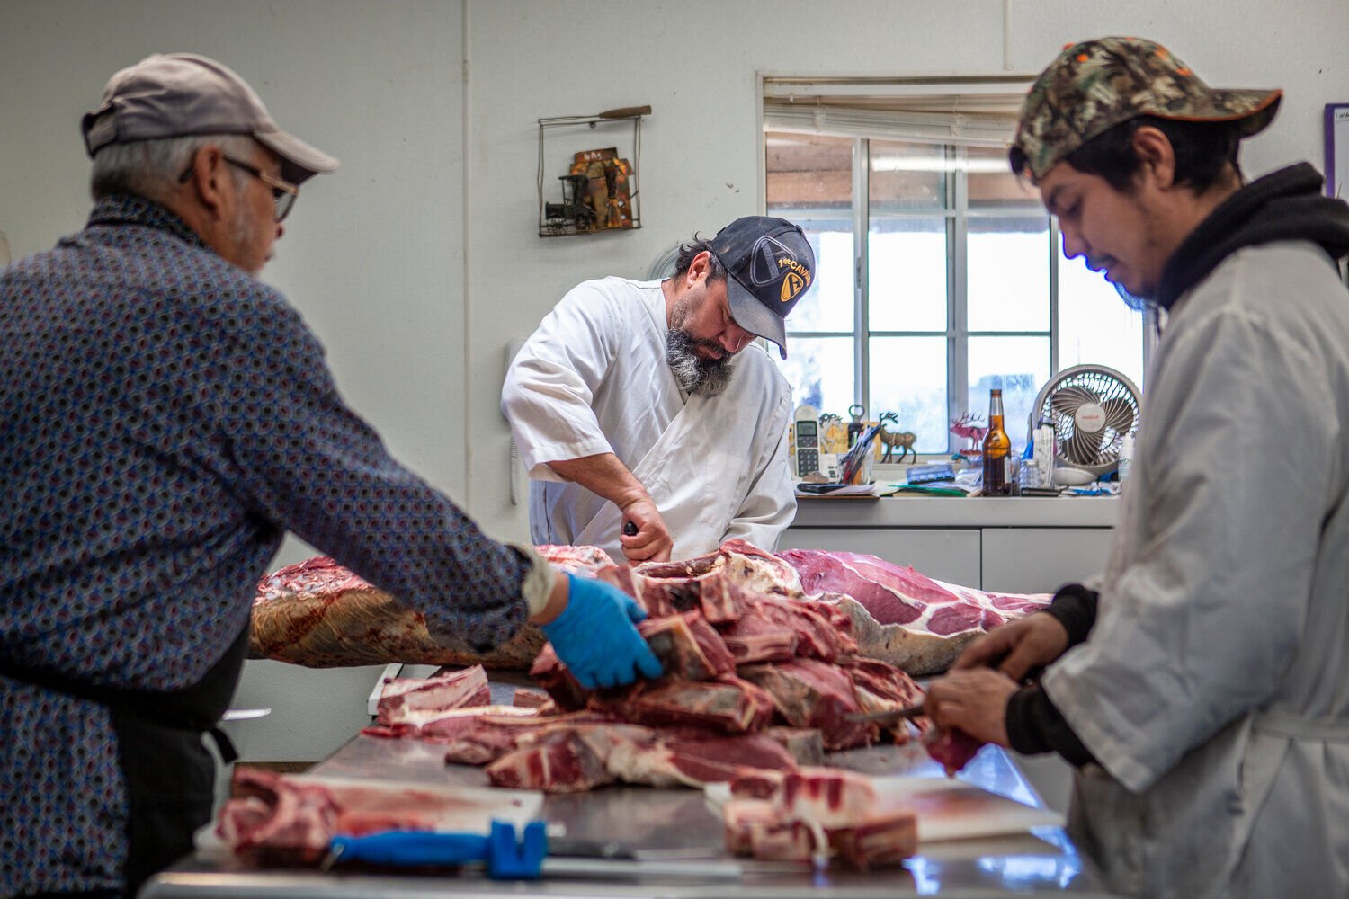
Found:
[[939, 581], [979, 586], [979, 532], [973, 528], [789, 527], [778, 549], [866, 553]]

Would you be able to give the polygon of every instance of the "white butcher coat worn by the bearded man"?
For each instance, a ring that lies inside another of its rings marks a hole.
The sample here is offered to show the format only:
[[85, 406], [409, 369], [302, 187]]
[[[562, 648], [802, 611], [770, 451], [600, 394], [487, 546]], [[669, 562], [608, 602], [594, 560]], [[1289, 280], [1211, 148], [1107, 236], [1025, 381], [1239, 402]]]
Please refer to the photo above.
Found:
[[529, 476], [536, 543], [603, 549], [623, 561], [618, 507], [564, 481], [549, 461], [614, 453], [646, 487], [688, 558], [741, 538], [774, 549], [796, 514], [786, 429], [792, 392], [758, 344], [719, 396], [685, 396], [665, 361], [658, 280], [571, 290], [515, 356], [502, 412]]

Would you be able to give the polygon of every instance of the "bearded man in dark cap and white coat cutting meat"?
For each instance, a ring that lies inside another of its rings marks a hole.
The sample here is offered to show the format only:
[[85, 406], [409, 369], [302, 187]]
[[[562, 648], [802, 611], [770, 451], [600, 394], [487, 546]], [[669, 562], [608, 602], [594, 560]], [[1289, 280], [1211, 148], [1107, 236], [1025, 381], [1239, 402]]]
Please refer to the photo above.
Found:
[[[615, 561], [772, 549], [796, 512], [786, 460], [786, 315], [815, 253], [782, 218], [737, 218], [680, 248], [665, 280], [569, 291], [511, 364], [502, 411], [525, 460], [537, 543]], [[747, 348], [747, 349], [746, 349]]]

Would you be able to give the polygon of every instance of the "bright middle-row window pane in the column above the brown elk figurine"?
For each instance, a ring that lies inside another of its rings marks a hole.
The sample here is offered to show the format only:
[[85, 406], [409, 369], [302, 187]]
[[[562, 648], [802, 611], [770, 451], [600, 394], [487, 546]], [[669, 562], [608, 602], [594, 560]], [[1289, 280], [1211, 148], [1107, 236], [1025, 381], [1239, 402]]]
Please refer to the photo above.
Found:
[[[946, 218], [871, 218], [871, 330], [946, 330]], [[944, 364], [944, 363], [943, 363]]]

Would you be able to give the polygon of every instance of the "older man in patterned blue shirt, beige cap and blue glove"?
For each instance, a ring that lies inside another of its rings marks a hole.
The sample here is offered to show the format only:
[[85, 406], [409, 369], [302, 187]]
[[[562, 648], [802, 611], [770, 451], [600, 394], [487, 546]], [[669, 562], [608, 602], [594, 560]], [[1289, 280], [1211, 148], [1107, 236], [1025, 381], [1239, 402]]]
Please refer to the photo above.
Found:
[[444, 639], [527, 619], [583, 683], [660, 674], [630, 598], [483, 536], [256, 280], [336, 159], [186, 54], [115, 74], [84, 133], [88, 226], [0, 272], [0, 895], [134, 895], [190, 849], [286, 530]]

